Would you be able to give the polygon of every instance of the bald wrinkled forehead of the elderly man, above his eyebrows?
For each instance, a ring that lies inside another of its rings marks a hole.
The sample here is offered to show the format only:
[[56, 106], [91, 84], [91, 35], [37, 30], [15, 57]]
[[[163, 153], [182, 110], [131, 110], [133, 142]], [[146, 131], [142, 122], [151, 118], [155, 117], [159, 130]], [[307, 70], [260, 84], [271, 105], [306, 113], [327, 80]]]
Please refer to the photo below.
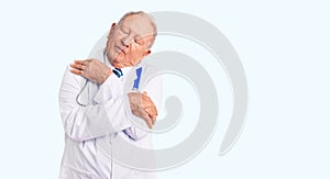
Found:
[[129, 15], [119, 25], [121, 27], [130, 29], [130, 31], [141, 37], [153, 35], [154, 33], [151, 20], [141, 14]]

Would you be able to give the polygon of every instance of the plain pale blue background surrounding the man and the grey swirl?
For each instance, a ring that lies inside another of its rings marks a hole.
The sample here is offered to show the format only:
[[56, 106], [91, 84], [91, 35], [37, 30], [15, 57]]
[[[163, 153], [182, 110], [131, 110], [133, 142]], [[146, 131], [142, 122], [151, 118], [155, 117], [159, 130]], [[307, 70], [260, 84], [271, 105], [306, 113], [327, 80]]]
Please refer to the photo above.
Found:
[[[110, 24], [131, 10], [179, 11], [209, 21], [235, 47], [249, 82], [248, 121], [232, 150], [217, 155], [224, 119], [200, 155], [160, 172], [161, 179], [329, 178], [329, 9], [326, 0], [2, 0], [0, 178], [57, 178], [64, 147], [57, 93], [64, 69], [86, 58]], [[156, 51], [163, 49], [158, 44]], [[221, 81], [219, 68], [210, 74]], [[217, 85], [220, 93], [223, 86], [220, 97], [230, 93], [223, 81]], [[221, 115], [229, 115], [230, 105], [221, 99]], [[179, 141], [170, 142], [157, 145]]]

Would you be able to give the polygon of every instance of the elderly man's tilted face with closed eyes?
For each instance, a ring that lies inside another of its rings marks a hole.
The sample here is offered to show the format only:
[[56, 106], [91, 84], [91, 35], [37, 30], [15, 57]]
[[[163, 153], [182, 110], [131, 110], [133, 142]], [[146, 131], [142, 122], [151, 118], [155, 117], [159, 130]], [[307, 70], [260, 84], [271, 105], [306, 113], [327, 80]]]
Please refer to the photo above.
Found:
[[150, 54], [153, 27], [147, 18], [139, 14], [125, 18], [112, 25], [107, 42], [107, 55], [112, 66], [134, 66]]

